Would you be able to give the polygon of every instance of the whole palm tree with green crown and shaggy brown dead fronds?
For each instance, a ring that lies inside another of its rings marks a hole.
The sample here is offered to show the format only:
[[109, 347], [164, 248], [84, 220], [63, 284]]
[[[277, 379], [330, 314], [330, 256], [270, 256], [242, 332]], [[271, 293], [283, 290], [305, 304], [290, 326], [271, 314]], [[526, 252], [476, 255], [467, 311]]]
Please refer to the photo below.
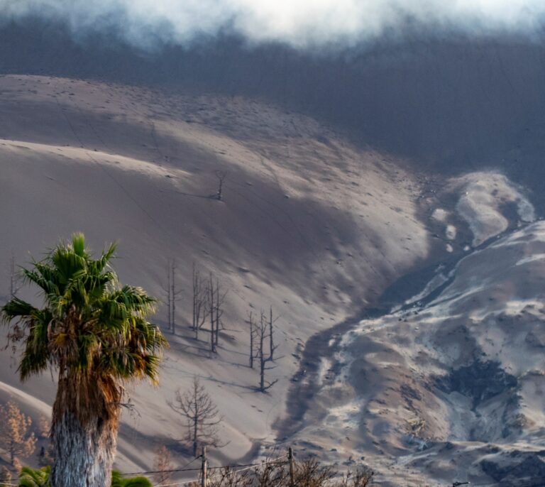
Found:
[[138, 378], [156, 383], [167, 346], [147, 321], [155, 298], [121, 286], [109, 266], [115, 249], [112, 244], [94, 259], [82, 234], [61, 241], [22, 270], [26, 282], [38, 286], [43, 305], [12, 297], [0, 308], [13, 346], [22, 345], [21, 380], [48, 367], [58, 373], [52, 487], [110, 485], [123, 385]]

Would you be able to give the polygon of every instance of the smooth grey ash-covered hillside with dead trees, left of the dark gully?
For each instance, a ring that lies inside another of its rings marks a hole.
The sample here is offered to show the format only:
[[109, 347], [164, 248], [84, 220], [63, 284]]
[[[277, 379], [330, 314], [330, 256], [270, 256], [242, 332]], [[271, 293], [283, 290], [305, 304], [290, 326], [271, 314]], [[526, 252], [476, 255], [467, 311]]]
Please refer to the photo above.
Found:
[[[229, 448], [215, 455], [232, 461], [274, 442], [297, 368], [292, 354], [376, 300], [432, 246], [418, 219], [419, 178], [307, 116], [247, 99], [55, 77], [9, 75], [0, 92], [2, 268], [12, 252], [26, 263], [29, 252], [39, 258], [81, 230], [95, 248], [119, 239], [123, 281], [163, 296], [167, 258], [177, 258], [177, 336], [169, 336], [160, 389], [131, 393], [141, 419], [125, 417], [124, 469], [149, 468], [161, 443], [188, 454], [178, 441], [182, 418], [166, 401], [194, 373], [225, 416]], [[216, 170], [228, 174], [221, 202]], [[216, 357], [209, 334], [195, 341], [188, 328], [193, 262], [229, 289]], [[280, 383], [261, 394], [245, 320], [270, 305], [281, 317], [270, 379]], [[166, 311], [157, 319], [164, 323]], [[33, 415], [46, 407], [36, 400], [51, 402], [49, 376], [21, 385], [9, 351], [1, 361], [4, 396]]]

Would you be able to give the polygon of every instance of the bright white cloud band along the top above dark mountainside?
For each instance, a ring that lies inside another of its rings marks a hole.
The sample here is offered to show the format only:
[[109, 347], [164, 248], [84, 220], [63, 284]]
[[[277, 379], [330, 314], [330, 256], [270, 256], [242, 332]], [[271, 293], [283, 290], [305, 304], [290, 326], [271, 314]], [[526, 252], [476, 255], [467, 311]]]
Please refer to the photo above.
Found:
[[298, 48], [396, 35], [407, 22], [445, 32], [536, 35], [545, 0], [0, 0], [0, 18], [43, 16], [131, 43], [188, 43], [222, 31]]

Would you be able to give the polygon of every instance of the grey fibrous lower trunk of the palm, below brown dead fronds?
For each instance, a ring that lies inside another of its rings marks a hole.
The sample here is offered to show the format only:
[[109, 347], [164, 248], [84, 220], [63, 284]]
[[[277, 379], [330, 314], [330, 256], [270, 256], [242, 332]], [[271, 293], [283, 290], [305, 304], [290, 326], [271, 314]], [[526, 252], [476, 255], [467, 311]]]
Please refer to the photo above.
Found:
[[55, 464], [51, 486], [109, 487], [116, 429], [99, 417], [88, 420], [84, 427], [72, 412], [58, 418], [52, 431]]

